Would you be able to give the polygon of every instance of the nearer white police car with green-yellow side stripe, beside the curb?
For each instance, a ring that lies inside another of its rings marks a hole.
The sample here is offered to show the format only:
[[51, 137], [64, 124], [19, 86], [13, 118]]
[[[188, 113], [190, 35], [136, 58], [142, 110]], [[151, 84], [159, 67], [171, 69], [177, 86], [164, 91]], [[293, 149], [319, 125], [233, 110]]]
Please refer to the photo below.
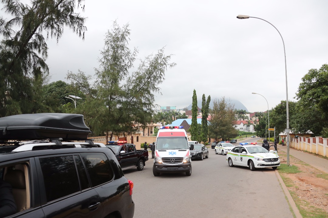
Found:
[[262, 146], [251, 144], [234, 147], [227, 153], [226, 160], [230, 167], [234, 165], [246, 166], [251, 171], [266, 167], [277, 169], [280, 166], [277, 152], [268, 151]]

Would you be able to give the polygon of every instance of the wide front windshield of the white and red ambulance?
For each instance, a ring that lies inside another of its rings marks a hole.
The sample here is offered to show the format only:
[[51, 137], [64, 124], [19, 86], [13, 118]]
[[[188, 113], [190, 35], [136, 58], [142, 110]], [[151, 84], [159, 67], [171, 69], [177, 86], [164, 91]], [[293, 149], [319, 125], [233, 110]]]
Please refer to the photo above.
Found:
[[157, 137], [156, 149], [189, 149], [187, 137]]

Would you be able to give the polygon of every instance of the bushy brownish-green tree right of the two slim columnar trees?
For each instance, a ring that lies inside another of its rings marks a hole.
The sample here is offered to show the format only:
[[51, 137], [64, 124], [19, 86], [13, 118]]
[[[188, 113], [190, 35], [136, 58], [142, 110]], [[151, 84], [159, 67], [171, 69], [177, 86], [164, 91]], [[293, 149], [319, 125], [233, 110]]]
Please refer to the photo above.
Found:
[[238, 135], [235, 125], [235, 105], [228, 103], [224, 97], [221, 100], [213, 100], [213, 109], [210, 110], [211, 119], [208, 126], [209, 137], [233, 138]]

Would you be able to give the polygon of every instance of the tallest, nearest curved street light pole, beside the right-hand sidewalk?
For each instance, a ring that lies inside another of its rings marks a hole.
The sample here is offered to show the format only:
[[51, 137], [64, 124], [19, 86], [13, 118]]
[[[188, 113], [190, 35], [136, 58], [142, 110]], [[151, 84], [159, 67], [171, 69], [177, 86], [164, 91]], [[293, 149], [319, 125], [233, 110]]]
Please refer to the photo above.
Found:
[[[256, 19], [260, 19], [263, 20], [269, 24], [271, 24], [270, 22], [262, 19], [262, 18], [258, 18], [258, 17], [250, 17], [247, 15], [238, 15], [237, 16], [238, 19], [247, 19], [247, 18], [256, 18]], [[275, 27], [273, 24], [271, 24], [273, 27]], [[285, 55], [285, 77], [286, 77], [286, 124], [287, 124], [287, 128], [286, 128], [286, 133], [287, 133], [287, 166], [289, 166], [289, 107], [288, 107], [288, 86], [287, 86], [287, 64], [286, 64], [286, 49], [285, 49], [285, 42], [284, 39], [282, 38], [279, 30], [275, 27], [275, 29], [278, 31], [281, 39], [282, 39], [282, 44], [284, 46], [284, 55]], [[268, 111], [269, 112], [269, 111]], [[270, 131], [269, 131], [270, 133]]]

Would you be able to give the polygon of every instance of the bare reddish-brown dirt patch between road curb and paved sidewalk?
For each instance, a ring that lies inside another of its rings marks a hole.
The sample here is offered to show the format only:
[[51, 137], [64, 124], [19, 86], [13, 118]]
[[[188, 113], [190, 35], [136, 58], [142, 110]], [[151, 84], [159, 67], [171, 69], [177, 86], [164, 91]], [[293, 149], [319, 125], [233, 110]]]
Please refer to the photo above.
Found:
[[[278, 153], [281, 163], [287, 164], [284, 152]], [[315, 207], [328, 214], [328, 180], [320, 178], [320, 176], [327, 178], [327, 175], [294, 157], [290, 157], [290, 164], [297, 166], [301, 172], [284, 173], [279, 171], [279, 174], [289, 178], [286, 186], [290, 192], [297, 196], [298, 199], [294, 200], [299, 201], [304, 210]]]

